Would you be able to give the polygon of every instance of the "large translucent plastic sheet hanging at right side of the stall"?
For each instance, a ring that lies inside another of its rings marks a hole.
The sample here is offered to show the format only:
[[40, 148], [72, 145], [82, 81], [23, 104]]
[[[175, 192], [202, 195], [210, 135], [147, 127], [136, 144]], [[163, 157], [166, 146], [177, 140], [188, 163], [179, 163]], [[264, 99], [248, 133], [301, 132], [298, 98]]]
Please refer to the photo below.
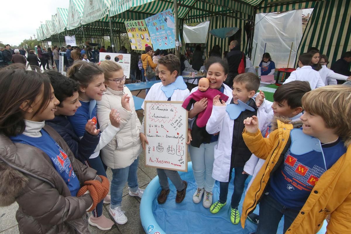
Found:
[[[290, 47], [293, 42], [289, 67], [294, 67], [301, 39], [302, 10], [288, 11], [282, 14], [256, 14], [251, 58], [253, 66], [257, 67], [261, 62], [265, 43], [267, 43], [266, 52], [271, 55], [276, 68], [287, 67]], [[256, 57], [253, 61], [254, 55]]]

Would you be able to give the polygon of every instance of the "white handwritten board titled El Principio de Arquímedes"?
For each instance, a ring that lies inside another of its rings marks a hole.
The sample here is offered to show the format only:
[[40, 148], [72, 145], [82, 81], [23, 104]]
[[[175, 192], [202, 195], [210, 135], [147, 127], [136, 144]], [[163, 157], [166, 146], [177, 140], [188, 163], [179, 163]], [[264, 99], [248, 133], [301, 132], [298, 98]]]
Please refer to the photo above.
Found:
[[188, 113], [180, 101], [145, 101], [145, 166], [187, 172]]

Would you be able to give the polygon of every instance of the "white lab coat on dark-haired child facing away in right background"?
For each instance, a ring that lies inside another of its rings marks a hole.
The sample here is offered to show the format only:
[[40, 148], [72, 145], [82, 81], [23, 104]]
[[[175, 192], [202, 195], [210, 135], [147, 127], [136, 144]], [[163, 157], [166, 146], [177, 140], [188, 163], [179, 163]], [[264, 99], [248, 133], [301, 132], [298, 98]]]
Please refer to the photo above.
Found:
[[283, 84], [294, 80], [308, 81], [312, 90], [325, 86], [322, 78], [320, 78], [319, 73], [317, 71], [314, 71], [311, 66], [303, 66], [300, 69], [293, 71]]

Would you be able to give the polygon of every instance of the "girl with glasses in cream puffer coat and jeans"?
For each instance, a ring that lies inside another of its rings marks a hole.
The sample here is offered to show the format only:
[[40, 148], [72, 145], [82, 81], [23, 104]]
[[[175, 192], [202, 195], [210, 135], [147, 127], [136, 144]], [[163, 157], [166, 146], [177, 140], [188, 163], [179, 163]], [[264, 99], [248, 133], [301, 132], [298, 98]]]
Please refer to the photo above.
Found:
[[120, 131], [112, 141], [101, 150], [101, 158], [112, 170], [110, 214], [118, 224], [128, 221], [121, 210], [123, 188], [128, 182], [129, 195], [141, 196], [144, 189], [138, 185], [137, 170], [141, 153], [141, 124], [135, 112], [132, 93], [124, 85], [126, 76], [123, 69], [111, 60], [99, 65], [104, 70], [106, 92], [97, 103], [97, 115], [100, 129], [110, 125], [109, 113], [117, 109], [121, 118]]

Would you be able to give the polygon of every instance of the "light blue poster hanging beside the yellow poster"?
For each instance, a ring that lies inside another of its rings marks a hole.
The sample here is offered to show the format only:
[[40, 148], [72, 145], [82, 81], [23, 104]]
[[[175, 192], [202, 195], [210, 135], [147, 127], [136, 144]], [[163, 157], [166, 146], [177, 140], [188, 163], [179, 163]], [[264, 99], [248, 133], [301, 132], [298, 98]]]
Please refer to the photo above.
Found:
[[[154, 50], [176, 47], [174, 17], [172, 9], [155, 14], [145, 19]], [[180, 40], [179, 40], [180, 41]]]

